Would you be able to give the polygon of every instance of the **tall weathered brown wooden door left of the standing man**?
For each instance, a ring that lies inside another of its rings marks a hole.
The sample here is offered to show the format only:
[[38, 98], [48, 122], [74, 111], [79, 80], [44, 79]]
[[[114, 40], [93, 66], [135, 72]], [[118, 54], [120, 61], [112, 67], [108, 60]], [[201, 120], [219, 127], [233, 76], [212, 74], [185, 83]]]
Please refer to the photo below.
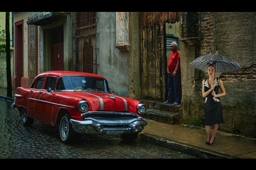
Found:
[[166, 98], [164, 23], [156, 22], [154, 12], [141, 12], [142, 98]]

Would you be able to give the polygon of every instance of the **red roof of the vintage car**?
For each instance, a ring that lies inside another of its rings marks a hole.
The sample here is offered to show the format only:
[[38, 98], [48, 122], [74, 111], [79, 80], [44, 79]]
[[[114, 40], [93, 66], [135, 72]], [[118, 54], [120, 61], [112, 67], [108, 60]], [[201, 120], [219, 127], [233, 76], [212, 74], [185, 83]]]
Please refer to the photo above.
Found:
[[97, 75], [97, 74], [91, 74], [91, 73], [82, 73], [82, 72], [77, 72], [77, 71], [46, 71], [46, 72], [43, 72], [43, 73], [40, 73], [39, 75], [36, 76], [39, 77], [39, 76], [63, 76], [63, 75], [84, 75], [84, 76], [96, 76], [98, 78], [104, 78], [106, 79], [104, 76], [101, 76], [101, 75]]

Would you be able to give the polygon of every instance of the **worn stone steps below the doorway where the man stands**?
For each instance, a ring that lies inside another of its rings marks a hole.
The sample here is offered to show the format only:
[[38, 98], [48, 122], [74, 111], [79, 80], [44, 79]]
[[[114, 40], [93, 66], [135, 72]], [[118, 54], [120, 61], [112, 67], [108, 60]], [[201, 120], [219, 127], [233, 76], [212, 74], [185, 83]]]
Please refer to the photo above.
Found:
[[181, 105], [164, 104], [154, 100], [140, 101], [147, 106], [143, 118], [170, 125], [180, 124], [179, 108]]

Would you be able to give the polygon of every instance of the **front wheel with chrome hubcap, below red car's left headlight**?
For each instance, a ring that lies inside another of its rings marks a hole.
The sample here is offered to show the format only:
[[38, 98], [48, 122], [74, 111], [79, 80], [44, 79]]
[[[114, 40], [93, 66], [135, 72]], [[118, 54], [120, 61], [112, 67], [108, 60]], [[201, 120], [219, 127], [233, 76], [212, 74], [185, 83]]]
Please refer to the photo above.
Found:
[[60, 121], [60, 138], [63, 143], [71, 143], [75, 135], [70, 119], [69, 114], [65, 114]]

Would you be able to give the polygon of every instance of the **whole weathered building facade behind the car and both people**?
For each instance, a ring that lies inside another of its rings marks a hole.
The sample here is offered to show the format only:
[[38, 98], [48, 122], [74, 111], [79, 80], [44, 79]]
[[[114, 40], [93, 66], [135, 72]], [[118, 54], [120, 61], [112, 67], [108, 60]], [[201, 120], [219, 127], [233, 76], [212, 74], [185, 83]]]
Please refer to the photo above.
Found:
[[[14, 12], [13, 88], [49, 70], [105, 76], [115, 94], [165, 101], [170, 43], [181, 61], [184, 124], [204, 126], [202, 79], [190, 63], [206, 54], [237, 61], [224, 82], [219, 130], [256, 137], [255, 12]], [[241, 24], [243, 23], [243, 24]]]

